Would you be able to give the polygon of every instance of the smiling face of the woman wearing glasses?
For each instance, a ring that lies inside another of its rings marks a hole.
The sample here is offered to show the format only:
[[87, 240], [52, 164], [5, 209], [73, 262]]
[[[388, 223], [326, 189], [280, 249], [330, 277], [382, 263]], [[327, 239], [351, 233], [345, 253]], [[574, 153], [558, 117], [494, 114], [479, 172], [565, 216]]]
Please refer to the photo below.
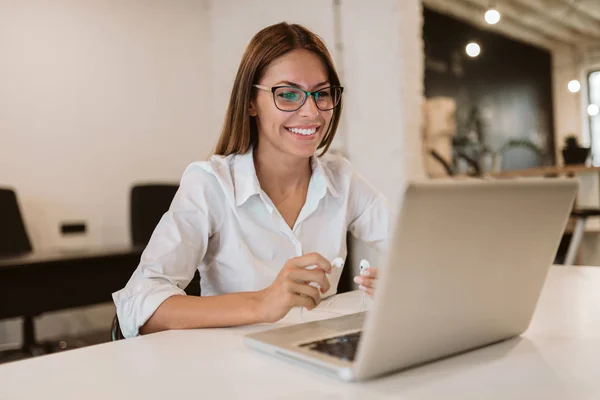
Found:
[[[294, 86], [310, 92], [331, 86], [325, 65], [308, 50], [293, 50], [273, 61], [259, 84], [269, 88]], [[292, 102], [296, 95], [282, 91], [276, 97], [280, 104], [284, 104]], [[307, 158], [317, 151], [331, 122], [333, 110], [319, 110], [311, 96], [298, 110], [281, 111], [273, 101], [273, 93], [256, 89], [250, 115], [256, 118], [262, 151], [268, 149], [291, 157]]]

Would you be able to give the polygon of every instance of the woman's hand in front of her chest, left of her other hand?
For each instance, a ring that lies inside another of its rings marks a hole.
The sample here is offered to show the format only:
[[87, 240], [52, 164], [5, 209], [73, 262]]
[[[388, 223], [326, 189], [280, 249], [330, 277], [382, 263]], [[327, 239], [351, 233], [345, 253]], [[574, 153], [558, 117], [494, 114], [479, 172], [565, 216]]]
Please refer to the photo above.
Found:
[[[316, 265], [314, 269], [306, 267]], [[261, 320], [276, 322], [294, 307], [312, 310], [321, 302], [321, 293], [329, 290], [325, 274], [331, 273], [331, 263], [318, 253], [309, 253], [289, 259], [266, 289], [259, 292]], [[314, 282], [320, 289], [310, 286]]]

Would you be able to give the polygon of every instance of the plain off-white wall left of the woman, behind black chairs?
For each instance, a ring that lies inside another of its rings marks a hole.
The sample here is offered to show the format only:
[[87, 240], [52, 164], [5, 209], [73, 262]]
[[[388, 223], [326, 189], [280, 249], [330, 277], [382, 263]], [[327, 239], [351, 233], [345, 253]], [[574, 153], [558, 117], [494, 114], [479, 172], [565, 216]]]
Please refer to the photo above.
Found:
[[0, 184], [33, 246], [128, 244], [132, 183], [178, 180], [214, 145], [203, 1], [0, 1]]

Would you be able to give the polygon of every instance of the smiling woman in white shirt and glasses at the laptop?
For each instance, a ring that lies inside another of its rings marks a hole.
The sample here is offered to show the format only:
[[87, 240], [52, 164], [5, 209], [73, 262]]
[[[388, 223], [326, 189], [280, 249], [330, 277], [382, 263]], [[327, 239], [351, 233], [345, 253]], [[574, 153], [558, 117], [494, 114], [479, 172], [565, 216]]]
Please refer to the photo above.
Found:
[[[325, 154], [342, 92], [315, 34], [287, 23], [256, 34], [215, 155], [188, 166], [140, 265], [113, 294], [126, 337], [313, 309], [336, 291], [341, 271], [331, 260], [345, 258], [348, 230], [383, 248], [384, 197], [347, 160]], [[185, 296], [196, 269], [202, 297]], [[377, 269], [364, 275], [355, 282], [372, 295]]]

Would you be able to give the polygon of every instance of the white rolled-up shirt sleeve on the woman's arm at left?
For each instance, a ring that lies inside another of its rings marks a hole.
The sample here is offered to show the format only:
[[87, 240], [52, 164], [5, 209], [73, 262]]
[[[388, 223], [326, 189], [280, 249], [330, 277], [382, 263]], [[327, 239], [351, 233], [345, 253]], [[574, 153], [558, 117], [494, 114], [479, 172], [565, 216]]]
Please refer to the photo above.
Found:
[[125, 337], [137, 336], [166, 299], [185, 295], [184, 289], [206, 253], [209, 238], [218, 229], [222, 202], [216, 198], [215, 182], [214, 176], [195, 164], [186, 169], [140, 264], [127, 285], [113, 293]]

